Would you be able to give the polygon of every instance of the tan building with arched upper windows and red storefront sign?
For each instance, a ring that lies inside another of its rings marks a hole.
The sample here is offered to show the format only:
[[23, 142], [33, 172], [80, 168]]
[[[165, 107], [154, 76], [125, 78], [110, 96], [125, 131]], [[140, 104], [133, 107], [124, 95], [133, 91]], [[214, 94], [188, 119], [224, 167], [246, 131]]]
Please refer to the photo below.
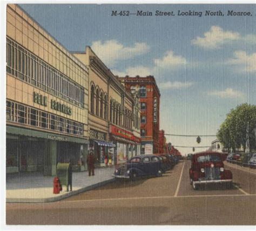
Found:
[[106, 156], [119, 164], [140, 154], [138, 97], [125, 90], [89, 46], [73, 55], [89, 68], [90, 150], [98, 165]]

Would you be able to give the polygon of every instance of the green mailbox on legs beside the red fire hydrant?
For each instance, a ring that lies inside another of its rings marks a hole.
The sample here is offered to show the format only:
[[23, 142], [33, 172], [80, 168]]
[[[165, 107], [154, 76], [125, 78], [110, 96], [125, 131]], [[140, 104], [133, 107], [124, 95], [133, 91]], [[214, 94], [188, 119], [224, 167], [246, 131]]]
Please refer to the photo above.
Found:
[[66, 186], [66, 192], [72, 191], [72, 167], [70, 163], [58, 163], [57, 164], [57, 176], [60, 181], [60, 185]]

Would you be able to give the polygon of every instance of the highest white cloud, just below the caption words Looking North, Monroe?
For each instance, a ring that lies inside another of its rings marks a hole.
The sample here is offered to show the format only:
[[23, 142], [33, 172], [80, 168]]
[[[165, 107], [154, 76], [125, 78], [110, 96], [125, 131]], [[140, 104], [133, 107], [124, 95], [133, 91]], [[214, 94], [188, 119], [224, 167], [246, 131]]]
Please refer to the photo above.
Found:
[[[252, 37], [248, 38], [251, 39]], [[204, 33], [204, 37], [197, 37], [191, 42], [205, 49], [217, 49], [225, 43], [242, 39], [238, 32], [224, 31], [219, 26], [212, 26], [210, 31]]]

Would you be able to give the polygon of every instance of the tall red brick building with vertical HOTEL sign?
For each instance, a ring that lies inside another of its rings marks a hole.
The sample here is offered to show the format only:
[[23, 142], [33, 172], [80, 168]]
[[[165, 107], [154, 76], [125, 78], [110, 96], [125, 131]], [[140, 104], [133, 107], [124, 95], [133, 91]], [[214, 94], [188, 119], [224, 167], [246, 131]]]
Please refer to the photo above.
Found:
[[119, 77], [126, 90], [138, 92], [140, 101], [141, 154], [159, 153], [160, 91], [153, 76]]

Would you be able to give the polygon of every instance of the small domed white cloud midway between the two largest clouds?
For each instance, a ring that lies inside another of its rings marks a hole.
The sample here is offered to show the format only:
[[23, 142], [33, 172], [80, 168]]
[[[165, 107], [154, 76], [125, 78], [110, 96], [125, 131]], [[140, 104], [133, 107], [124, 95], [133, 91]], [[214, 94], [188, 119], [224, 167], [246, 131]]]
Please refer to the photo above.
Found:
[[160, 59], [154, 59], [155, 67], [169, 69], [186, 64], [186, 59], [182, 56], [174, 55], [173, 51], [166, 52], [165, 56]]

